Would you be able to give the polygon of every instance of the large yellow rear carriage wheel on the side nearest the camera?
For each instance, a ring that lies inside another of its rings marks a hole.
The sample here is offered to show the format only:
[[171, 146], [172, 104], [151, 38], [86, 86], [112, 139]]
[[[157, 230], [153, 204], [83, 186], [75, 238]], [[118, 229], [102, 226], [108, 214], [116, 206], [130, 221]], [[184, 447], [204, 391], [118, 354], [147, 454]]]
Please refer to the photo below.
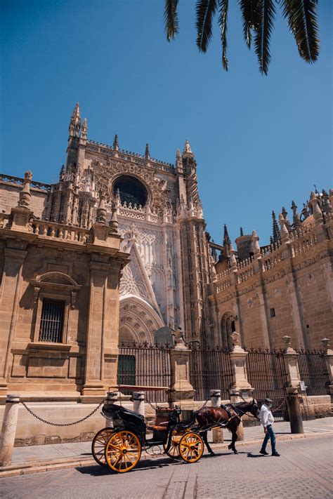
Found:
[[140, 456], [141, 443], [133, 432], [115, 432], [105, 446], [107, 465], [117, 473], [131, 470], [138, 463]]

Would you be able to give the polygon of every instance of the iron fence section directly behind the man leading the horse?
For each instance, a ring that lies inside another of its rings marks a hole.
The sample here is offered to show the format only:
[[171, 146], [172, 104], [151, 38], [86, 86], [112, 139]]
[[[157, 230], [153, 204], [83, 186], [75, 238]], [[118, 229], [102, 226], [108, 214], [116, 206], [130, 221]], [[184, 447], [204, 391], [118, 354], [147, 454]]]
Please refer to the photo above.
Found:
[[288, 385], [282, 352], [250, 349], [247, 354], [247, 378], [254, 387], [254, 397], [263, 403], [266, 397], [273, 400], [275, 420], [287, 419], [286, 387]]

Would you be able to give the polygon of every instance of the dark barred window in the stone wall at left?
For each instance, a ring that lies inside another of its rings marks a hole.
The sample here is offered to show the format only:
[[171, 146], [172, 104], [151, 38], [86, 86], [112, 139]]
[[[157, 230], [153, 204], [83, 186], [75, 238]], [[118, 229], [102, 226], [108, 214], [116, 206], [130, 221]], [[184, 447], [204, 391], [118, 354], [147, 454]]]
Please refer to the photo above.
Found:
[[61, 343], [63, 338], [63, 323], [65, 316], [65, 301], [43, 299], [41, 308], [41, 327], [39, 341]]

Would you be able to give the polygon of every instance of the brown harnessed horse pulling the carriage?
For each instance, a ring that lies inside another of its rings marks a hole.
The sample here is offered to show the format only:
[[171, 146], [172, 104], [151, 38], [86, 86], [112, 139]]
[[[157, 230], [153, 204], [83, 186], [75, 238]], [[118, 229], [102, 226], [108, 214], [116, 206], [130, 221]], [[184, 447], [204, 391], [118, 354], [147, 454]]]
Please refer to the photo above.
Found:
[[207, 440], [207, 432], [216, 424], [216, 426], [221, 425], [221, 427], [227, 428], [231, 432], [232, 440], [228, 448], [237, 454], [235, 441], [237, 440], [237, 428], [240, 425], [242, 415], [251, 413], [254, 418], [258, 419], [258, 411], [259, 407], [256, 403], [256, 399], [253, 399], [251, 402], [244, 401], [237, 404], [227, 404], [227, 406], [221, 405], [220, 407], [205, 406], [202, 407], [200, 411], [197, 411], [195, 413], [195, 418], [200, 427], [207, 427], [207, 430], [202, 433], [202, 439], [204, 444], [206, 444], [209, 453], [214, 455], [214, 451], [211, 450]]

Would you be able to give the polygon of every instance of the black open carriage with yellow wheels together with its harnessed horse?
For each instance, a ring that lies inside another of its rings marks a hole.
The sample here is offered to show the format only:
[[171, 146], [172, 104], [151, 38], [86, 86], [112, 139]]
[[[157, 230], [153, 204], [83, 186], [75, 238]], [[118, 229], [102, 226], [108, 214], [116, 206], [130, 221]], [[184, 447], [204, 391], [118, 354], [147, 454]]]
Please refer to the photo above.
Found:
[[[142, 449], [154, 446], [163, 448], [171, 458], [180, 457], [185, 463], [196, 463], [202, 457], [204, 444], [214, 454], [207, 441], [207, 432], [216, 427], [228, 427], [231, 420], [239, 418], [236, 412], [235, 415], [229, 413], [226, 418], [221, 416], [219, 408], [205, 408], [205, 411], [190, 411], [190, 419], [185, 421], [181, 420], [181, 408], [175, 406], [159, 411], [155, 424], [147, 425], [143, 415], [121, 404], [106, 403], [102, 411], [105, 418], [112, 421], [112, 427], [105, 427], [96, 433], [91, 446], [93, 458], [99, 465], [109, 466], [118, 473], [132, 470], [140, 460]], [[150, 439], [147, 438], [148, 431], [152, 431]], [[234, 441], [229, 448], [237, 453]]]

